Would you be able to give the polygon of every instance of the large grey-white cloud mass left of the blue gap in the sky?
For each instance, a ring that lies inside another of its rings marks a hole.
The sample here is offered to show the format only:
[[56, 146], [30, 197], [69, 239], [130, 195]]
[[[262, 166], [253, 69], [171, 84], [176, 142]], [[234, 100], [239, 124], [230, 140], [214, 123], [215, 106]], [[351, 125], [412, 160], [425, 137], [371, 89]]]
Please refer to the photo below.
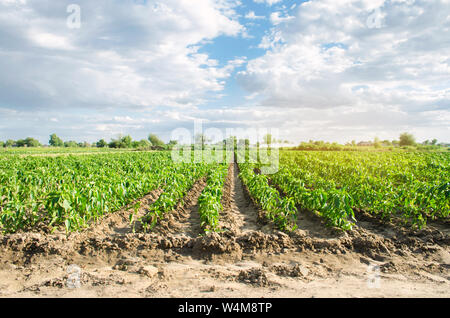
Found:
[[0, 106], [183, 107], [223, 90], [231, 68], [199, 44], [241, 34], [236, 1], [79, 1], [80, 29], [69, 3], [0, 2]]

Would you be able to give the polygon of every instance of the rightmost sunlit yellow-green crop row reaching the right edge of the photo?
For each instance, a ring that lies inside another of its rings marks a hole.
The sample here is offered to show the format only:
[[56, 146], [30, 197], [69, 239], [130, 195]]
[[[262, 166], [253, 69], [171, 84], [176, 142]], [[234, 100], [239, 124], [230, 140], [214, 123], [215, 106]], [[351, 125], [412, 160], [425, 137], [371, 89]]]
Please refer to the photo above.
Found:
[[[343, 158], [341, 154], [327, 154], [327, 160], [320, 158], [320, 153], [316, 159], [302, 153], [290, 154], [283, 158], [282, 166], [306, 188], [349, 195], [353, 207], [383, 218], [397, 215], [420, 228], [426, 224], [427, 216], [449, 216], [450, 183], [448, 172], [443, 170], [448, 161], [442, 154], [371, 154], [371, 161], [363, 154], [359, 160]], [[392, 162], [394, 159], [397, 162]], [[378, 175], [374, 167], [380, 168]]]

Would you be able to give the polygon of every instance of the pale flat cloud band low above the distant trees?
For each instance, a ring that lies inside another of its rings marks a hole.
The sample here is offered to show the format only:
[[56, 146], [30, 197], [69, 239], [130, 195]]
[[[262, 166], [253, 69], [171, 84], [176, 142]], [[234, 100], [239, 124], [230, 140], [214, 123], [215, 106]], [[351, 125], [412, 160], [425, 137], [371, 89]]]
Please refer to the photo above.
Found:
[[[335, 108], [302, 108], [274, 106], [249, 107], [248, 105], [206, 108], [154, 108], [152, 110], [123, 114], [117, 112], [63, 112], [57, 117], [51, 111], [6, 110], [0, 108], [0, 125], [3, 140], [15, 136], [33, 136], [47, 143], [49, 135], [57, 132], [64, 140], [94, 142], [100, 138], [116, 138], [130, 134], [134, 139], [146, 138], [156, 133], [169, 141], [177, 128], [194, 130], [194, 123], [202, 122], [203, 129], [217, 128], [224, 135], [227, 129], [278, 129], [278, 138], [293, 142], [301, 140], [328, 140], [341, 143], [356, 140], [398, 138], [409, 131], [418, 141], [438, 138], [448, 141], [450, 115], [445, 110], [409, 113], [389, 106], [372, 109], [340, 106]], [[430, 125], [432, 122], [432, 125]], [[3, 126], [3, 127], [2, 127]], [[26, 134], [24, 135], [24, 128]], [[275, 129], [275, 130], [274, 130]]]

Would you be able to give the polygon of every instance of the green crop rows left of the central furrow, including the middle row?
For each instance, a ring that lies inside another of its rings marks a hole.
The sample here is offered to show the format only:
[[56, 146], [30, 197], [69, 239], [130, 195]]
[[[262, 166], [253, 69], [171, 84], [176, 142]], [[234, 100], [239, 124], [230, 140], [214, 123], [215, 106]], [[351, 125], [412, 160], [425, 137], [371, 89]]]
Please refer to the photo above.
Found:
[[[153, 227], [206, 175], [199, 212], [209, 232], [219, 230], [227, 165], [174, 163], [168, 153], [5, 157], [0, 160], [0, 230], [63, 225], [67, 232], [77, 231], [159, 188], [162, 194], [142, 218], [144, 228]], [[134, 214], [130, 217], [133, 221]]]

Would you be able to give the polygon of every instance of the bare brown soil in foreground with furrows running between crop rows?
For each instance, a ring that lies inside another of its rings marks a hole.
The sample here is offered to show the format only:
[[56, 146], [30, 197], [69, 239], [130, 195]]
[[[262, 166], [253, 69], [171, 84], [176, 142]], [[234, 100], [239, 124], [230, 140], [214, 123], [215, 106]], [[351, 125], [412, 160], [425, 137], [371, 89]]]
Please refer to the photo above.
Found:
[[[132, 208], [72, 233], [0, 236], [1, 297], [449, 297], [445, 222], [412, 231], [357, 212], [354, 230], [300, 211], [298, 230], [267, 222], [230, 165], [222, 231], [201, 235], [199, 180], [150, 233]], [[161, 194], [141, 201], [138, 216]]]

